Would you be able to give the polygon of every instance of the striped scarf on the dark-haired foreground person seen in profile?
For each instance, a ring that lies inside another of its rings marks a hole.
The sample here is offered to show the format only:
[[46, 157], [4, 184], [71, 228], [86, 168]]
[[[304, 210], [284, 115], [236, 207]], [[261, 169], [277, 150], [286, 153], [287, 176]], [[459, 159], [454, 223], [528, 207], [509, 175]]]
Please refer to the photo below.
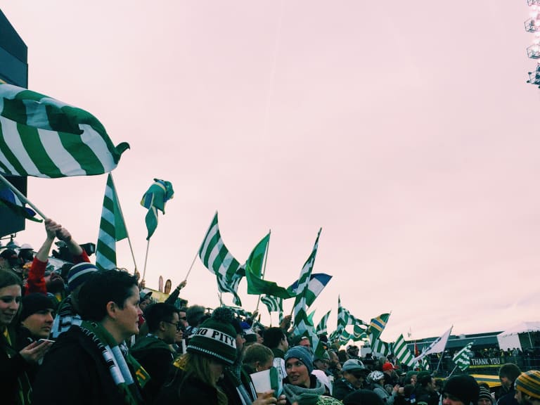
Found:
[[[98, 347], [107, 364], [110, 376], [124, 397], [124, 404], [142, 404], [143, 399], [139, 387], [143, 387], [150, 380], [150, 375], [145, 369], [127, 352], [127, 347], [119, 346], [103, 326], [94, 322], [82, 321], [82, 332], [87, 335]], [[133, 380], [129, 366], [134, 370], [137, 383]]]

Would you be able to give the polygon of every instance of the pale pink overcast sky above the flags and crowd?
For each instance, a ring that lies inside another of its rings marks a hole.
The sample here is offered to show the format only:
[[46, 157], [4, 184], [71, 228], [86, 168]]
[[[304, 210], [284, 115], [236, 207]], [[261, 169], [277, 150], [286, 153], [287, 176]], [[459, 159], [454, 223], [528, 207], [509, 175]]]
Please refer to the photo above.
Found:
[[[271, 229], [267, 278], [314, 272], [382, 338], [537, 321], [539, 89], [527, 1], [11, 1], [29, 88], [84, 108], [115, 143], [113, 175], [142, 271], [158, 177], [176, 191], [150, 242], [147, 283], [179, 283], [216, 210], [243, 262]], [[106, 176], [29, 179], [28, 196], [96, 242]], [[38, 248], [41, 224], [20, 243]], [[119, 265], [133, 268], [127, 242]], [[184, 292], [185, 291], [185, 292]], [[218, 304], [199, 260], [182, 295]], [[257, 297], [245, 293], [246, 309]], [[224, 295], [231, 303], [230, 295]], [[292, 301], [285, 303], [289, 312]], [[263, 321], [269, 316], [262, 306]]]

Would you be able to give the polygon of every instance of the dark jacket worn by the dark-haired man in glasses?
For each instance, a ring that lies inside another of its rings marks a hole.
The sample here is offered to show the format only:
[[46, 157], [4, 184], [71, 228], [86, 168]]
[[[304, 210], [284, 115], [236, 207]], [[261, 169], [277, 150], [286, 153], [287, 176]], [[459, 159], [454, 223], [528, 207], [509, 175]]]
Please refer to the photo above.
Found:
[[130, 352], [131, 356], [134, 356], [146, 372], [150, 374], [150, 381], [144, 386], [143, 391], [145, 397], [151, 403], [165, 380], [167, 380], [172, 361], [174, 361], [174, 355], [169, 345], [155, 336], [145, 336], [137, 340], [134, 347], [131, 347]]

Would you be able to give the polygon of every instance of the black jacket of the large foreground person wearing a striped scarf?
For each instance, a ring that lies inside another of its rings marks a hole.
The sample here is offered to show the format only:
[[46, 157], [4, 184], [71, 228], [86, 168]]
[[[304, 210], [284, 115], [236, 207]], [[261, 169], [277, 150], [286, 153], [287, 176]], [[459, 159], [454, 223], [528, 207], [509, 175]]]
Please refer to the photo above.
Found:
[[[131, 370], [131, 375], [134, 371]], [[136, 378], [134, 377], [136, 381]], [[141, 394], [137, 393], [142, 404]], [[121, 405], [103, 354], [81, 328], [62, 333], [45, 355], [34, 380], [32, 405]]]

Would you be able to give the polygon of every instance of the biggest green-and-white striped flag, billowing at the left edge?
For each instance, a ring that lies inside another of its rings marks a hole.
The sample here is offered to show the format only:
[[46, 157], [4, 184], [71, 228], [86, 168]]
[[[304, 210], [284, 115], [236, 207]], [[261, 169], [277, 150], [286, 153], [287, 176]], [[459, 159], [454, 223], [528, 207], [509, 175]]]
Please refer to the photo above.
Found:
[[0, 82], [0, 174], [90, 176], [112, 171], [129, 149], [114, 146], [94, 115]]

